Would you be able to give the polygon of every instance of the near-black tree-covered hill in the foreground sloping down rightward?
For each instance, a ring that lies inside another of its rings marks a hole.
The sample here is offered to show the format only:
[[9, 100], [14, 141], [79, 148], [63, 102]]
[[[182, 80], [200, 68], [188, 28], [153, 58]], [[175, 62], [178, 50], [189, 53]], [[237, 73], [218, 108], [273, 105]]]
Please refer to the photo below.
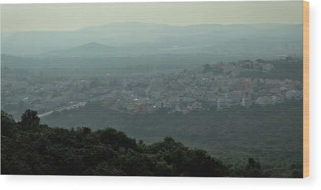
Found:
[[146, 145], [111, 128], [50, 128], [33, 110], [18, 122], [1, 111], [1, 174], [269, 177], [251, 158], [233, 167], [171, 137]]

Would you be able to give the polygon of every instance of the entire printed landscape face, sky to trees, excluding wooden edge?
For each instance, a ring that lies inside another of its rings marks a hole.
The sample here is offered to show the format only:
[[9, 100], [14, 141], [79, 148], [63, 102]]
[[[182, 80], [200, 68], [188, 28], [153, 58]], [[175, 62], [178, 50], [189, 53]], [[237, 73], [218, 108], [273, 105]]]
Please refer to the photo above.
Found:
[[302, 177], [302, 2], [242, 3], [2, 6], [2, 172]]

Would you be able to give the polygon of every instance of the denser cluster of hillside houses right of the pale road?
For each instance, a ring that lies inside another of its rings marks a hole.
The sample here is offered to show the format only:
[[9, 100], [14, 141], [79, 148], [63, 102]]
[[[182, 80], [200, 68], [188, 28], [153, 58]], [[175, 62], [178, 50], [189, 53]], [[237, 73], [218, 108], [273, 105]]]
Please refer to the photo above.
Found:
[[[249, 69], [244, 68], [246, 65], [250, 65]], [[303, 85], [300, 81], [240, 76], [248, 70], [269, 72], [273, 68], [272, 64], [255, 61], [250, 64], [220, 62], [189, 71], [132, 76], [119, 82], [122, 85], [107, 95], [104, 105], [127, 113], [153, 113], [167, 108], [170, 110], [168, 113], [185, 114], [193, 110], [275, 105], [284, 100], [302, 99]]]

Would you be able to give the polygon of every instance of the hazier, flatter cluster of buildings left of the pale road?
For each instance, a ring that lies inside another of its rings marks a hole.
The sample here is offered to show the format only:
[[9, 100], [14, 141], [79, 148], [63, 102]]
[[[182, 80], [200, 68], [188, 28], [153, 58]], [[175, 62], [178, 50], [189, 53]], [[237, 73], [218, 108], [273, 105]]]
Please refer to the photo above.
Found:
[[91, 87], [90, 79], [1, 78], [1, 107], [52, 110], [85, 102], [107, 93], [105, 87]]

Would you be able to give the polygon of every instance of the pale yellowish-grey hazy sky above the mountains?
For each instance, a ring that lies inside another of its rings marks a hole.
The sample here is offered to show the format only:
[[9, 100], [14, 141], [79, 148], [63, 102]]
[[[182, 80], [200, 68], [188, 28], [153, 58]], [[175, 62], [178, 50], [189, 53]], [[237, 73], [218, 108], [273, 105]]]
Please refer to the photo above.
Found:
[[1, 31], [74, 30], [111, 22], [302, 23], [302, 1], [2, 4]]

